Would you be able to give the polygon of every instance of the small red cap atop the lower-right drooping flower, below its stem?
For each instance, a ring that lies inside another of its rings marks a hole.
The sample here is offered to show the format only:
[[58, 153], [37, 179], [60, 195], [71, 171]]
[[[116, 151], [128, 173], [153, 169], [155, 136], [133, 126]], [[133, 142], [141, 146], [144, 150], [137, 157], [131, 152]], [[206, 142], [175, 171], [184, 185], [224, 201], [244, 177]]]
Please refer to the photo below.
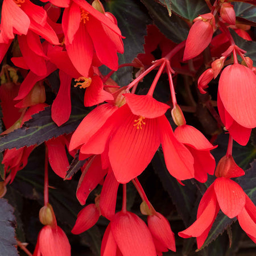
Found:
[[216, 177], [240, 177], [245, 175], [245, 172], [234, 162], [233, 156], [223, 156], [216, 167]]

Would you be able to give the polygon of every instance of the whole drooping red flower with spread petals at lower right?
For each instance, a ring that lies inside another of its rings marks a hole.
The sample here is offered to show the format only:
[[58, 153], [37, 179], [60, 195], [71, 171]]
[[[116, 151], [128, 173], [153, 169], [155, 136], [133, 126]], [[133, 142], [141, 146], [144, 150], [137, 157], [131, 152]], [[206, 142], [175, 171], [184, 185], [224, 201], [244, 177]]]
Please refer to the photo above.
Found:
[[200, 248], [206, 240], [210, 228], [221, 209], [229, 218], [237, 217], [241, 228], [255, 241], [255, 205], [243, 192], [243, 189], [232, 177], [244, 175], [232, 156], [224, 156], [216, 168], [217, 179], [207, 189], [197, 210], [197, 220], [187, 229], [179, 232], [183, 238], [196, 237]]

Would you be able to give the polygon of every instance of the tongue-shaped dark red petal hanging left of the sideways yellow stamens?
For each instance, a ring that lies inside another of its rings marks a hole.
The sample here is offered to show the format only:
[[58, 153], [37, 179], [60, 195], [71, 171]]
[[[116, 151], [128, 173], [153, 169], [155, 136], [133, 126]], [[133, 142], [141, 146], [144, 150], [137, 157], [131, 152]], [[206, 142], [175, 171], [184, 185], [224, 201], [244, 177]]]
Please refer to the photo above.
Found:
[[57, 126], [63, 125], [67, 122], [71, 114], [71, 81], [72, 77], [59, 72], [60, 88], [55, 100], [52, 103], [52, 120]]

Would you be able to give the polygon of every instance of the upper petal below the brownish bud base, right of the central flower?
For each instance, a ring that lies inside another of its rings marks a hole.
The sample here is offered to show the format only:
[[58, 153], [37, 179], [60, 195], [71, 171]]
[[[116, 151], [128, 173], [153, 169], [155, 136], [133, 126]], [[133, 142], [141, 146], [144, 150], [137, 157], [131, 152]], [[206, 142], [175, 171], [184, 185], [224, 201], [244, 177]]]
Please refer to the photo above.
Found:
[[203, 133], [190, 125], [177, 126], [174, 131], [176, 139], [184, 144], [196, 148], [197, 150], [212, 150], [217, 146], [213, 146]]

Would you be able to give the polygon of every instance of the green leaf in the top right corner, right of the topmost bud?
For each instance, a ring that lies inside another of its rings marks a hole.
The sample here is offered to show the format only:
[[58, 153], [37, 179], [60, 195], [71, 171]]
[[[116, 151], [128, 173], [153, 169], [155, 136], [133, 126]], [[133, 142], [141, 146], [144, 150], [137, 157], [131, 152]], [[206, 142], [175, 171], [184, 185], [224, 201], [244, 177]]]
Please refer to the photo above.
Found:
[[236, 16], [256, 24], [256, 6], [250, 5], [250, 3], [234, 3], [234, 10]]

